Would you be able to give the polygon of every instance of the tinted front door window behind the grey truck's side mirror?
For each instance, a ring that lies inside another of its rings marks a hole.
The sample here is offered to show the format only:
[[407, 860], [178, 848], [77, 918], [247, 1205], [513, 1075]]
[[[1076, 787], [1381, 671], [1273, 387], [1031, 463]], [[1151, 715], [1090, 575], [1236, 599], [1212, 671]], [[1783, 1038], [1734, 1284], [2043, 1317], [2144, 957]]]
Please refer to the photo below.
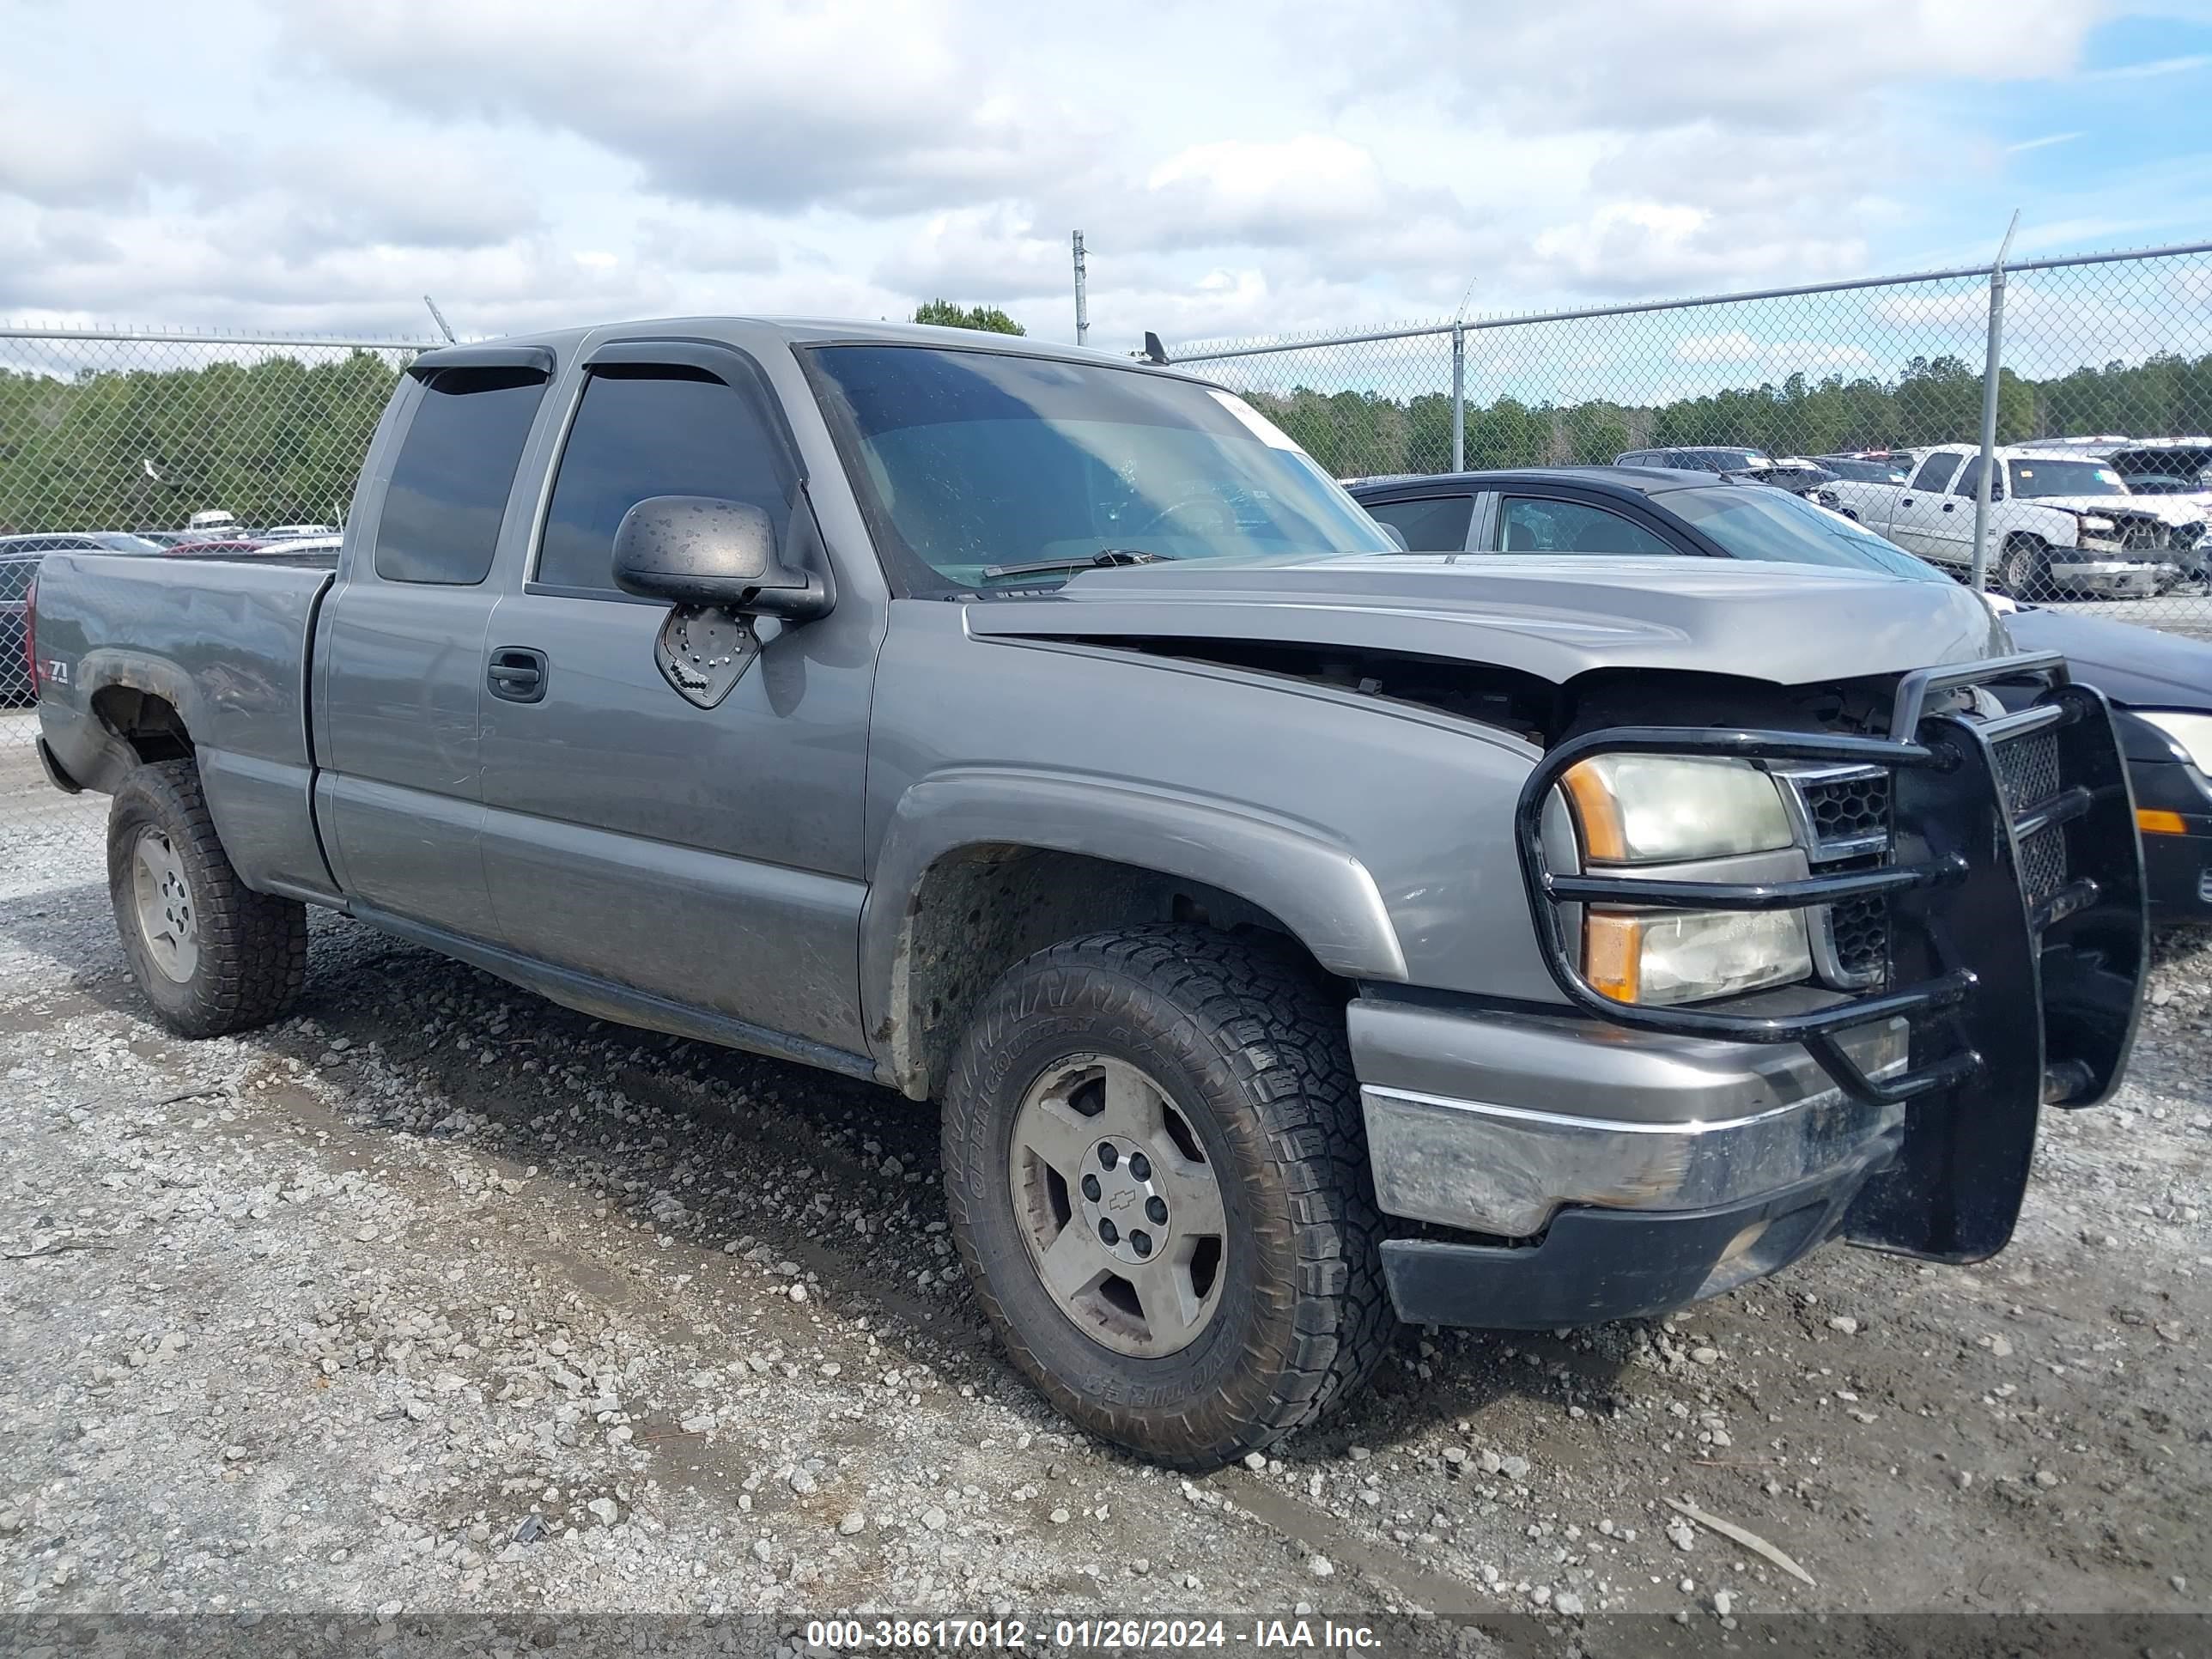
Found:
[[768, 513], [783, 542], [794, 482], [750, 398], [706, 369], [611, 363], [584, 380], [533, 582], [615, 595], [615, 529], [653, 495], [714, 495]]

